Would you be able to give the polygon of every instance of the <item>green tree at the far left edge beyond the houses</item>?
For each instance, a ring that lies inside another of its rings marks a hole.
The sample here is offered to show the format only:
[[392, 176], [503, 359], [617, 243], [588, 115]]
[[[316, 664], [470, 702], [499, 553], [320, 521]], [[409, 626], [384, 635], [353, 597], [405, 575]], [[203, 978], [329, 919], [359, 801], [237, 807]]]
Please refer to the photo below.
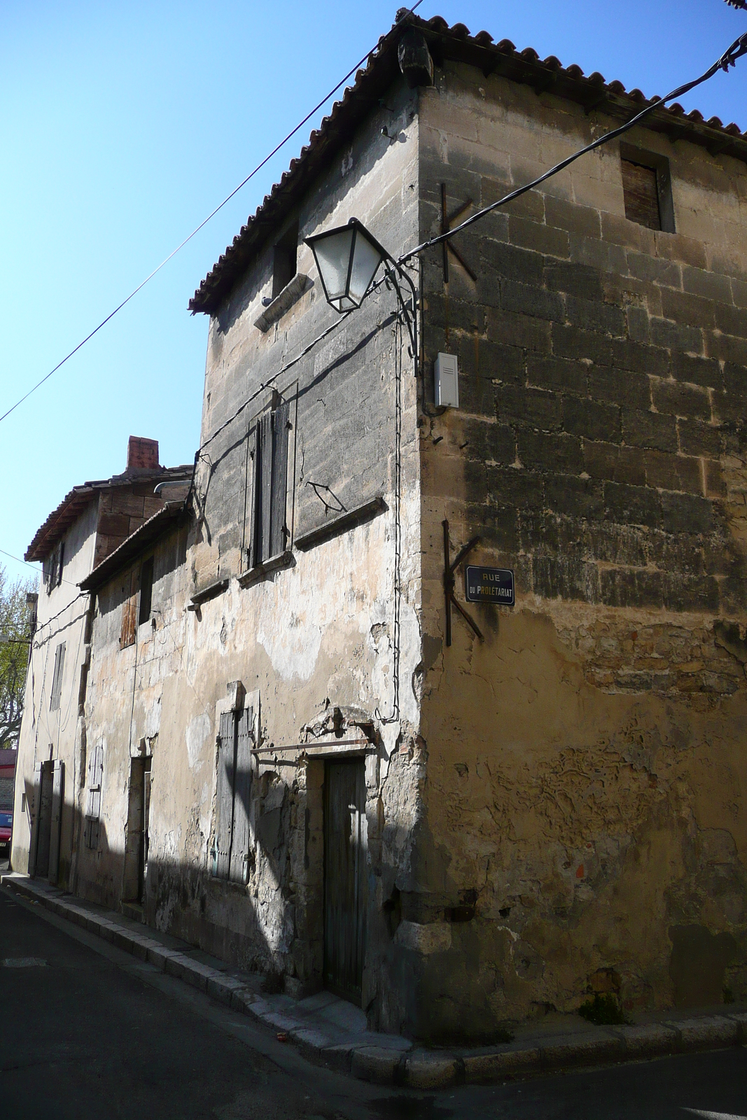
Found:
[[30, 638], [26, 596], [34, 588], [34, 580], [9, 580], [0, 564], [0, 748], [15, 746], [21, 728]]

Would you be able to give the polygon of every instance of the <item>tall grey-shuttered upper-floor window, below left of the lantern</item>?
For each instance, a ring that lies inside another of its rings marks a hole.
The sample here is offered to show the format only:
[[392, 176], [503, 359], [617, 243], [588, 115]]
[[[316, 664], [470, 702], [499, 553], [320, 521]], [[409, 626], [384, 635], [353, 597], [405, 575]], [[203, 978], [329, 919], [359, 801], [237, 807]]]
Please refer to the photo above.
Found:
[[288, 402], [260, 417], [254, 428], [252, 524], [249, 567], [286, 550], [288, 486]]

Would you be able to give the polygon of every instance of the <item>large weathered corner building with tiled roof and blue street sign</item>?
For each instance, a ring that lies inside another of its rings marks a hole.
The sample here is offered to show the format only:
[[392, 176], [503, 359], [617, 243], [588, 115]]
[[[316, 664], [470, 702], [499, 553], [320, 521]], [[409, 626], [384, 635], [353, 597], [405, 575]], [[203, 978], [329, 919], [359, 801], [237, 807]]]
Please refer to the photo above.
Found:
[[408, 17], [205, 278], [189, 494], [82, 582], [82, 894], [430, 1040], [747, 998], [747, 137], [659, 108], [411, 260], [417, 365], [305, 242], [404, 254], [644, 101]]

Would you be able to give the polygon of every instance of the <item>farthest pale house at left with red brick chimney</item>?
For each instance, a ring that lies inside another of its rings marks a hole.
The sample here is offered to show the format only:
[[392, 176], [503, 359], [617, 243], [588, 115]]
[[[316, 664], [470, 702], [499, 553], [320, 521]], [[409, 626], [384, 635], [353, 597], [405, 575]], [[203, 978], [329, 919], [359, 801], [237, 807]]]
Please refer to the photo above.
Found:
[[32, 604], [11, 859], [16, 870], [66, 889], [76, 884], [91, 656], [91, 603], [77, 585], [164, 507], [158, 484], [181, 482], [184, 500], [190, 477], [190, 465], [159, 466], [157, 440], [131, 436], [124, 473], [74, 486], [26, 551], [27, 560], [41, 561], [43, 575]]

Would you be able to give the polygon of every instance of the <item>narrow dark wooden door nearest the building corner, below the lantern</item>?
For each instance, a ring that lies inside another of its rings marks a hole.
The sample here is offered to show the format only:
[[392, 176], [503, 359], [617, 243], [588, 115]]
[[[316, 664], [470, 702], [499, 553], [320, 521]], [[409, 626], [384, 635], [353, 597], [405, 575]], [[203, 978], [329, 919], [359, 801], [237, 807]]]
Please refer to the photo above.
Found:
[[325, 983], [361, 1004], [366, 942], [366, 783], [363, 760], [325, 766]]

